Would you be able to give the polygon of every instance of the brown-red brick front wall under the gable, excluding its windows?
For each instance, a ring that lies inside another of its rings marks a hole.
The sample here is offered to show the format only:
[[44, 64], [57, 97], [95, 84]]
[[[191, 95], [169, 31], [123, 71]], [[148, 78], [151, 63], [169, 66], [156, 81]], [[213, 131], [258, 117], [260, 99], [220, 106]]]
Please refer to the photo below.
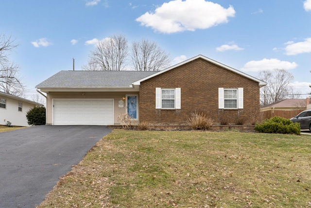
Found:
[[[181, 88], [181, 109], [155, 109], [155, 88]], [[218, 109], [218, 88], [242, 87], [244, 108]], [[207, 113], [214, 123], [252, 124], [259, 119], [259, 84], [198, 58], [140, 83], [139, 121], [184, 124], [191, 112]]]

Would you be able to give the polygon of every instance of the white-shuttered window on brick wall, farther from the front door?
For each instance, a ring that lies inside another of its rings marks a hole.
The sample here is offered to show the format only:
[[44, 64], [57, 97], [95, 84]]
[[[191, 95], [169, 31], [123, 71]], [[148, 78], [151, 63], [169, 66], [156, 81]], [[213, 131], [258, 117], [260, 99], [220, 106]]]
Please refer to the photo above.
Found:
[[219, 109], [242, 109], [243, 88], [218, 88]]

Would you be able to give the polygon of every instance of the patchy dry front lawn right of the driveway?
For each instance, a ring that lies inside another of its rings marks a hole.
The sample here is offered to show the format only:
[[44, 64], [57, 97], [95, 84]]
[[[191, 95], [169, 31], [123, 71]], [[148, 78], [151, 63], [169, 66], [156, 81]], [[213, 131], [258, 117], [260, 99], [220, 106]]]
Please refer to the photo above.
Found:
[[308, 135], [113, 130], [40, 208], [308, 208]]

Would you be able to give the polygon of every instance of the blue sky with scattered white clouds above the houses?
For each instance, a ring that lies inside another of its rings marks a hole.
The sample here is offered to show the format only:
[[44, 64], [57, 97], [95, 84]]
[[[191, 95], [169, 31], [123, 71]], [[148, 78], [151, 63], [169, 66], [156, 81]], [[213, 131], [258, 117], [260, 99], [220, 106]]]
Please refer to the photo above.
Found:
[[0, 8], [27, 97], [72, 70], [72, 58], [80, 70], [112, 35], [155, 41], [172, 65], [201, 54], [252, 76], [285, 69], [296, 91], [311, 92], [311, 0], [0, 0]]

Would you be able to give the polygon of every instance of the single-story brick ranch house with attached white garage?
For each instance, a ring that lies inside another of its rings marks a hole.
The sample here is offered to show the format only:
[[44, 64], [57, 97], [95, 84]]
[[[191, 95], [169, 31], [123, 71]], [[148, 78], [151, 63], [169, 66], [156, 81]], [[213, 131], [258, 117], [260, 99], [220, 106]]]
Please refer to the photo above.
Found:
[[259, 88], [266, 83], [198, 55], [158, 72], [60, 71], [36, 86], [47, 94], [48, 125], [187, 123], [191, 112], [215, 124], [259, 119]]

